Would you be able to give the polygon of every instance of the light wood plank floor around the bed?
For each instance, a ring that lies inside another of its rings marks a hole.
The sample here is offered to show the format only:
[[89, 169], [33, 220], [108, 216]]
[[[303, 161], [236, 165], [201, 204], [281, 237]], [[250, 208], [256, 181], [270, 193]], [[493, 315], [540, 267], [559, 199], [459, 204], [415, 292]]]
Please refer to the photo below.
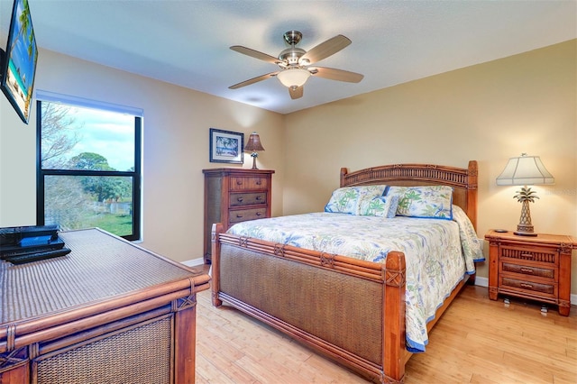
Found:
[[[466, 287], [429, 335], [426, 353], [408, 361], [405, 382], [577, 383], [577, 308], [511, 298], [491, 301], [487, 288]], [[197, 384], [366, 383], [332, 361], [234, 308], [198, 294]]]

